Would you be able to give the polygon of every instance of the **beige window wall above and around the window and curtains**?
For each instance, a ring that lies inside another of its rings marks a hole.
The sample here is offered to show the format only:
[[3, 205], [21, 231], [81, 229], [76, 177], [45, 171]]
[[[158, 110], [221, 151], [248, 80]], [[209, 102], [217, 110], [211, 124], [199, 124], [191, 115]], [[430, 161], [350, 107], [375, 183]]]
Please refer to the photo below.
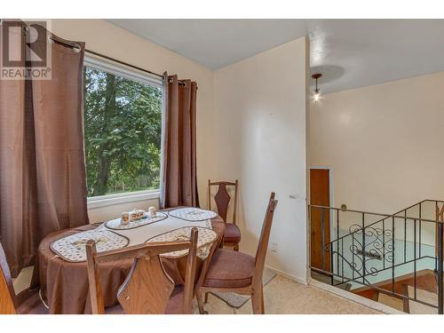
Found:
[[[52, 32], [62, 38], [86, 42], [91, 51], [109, 55], [155, 73], [168, 71], [179, 78], [193, 79], [197, 92], [197, 174], [199, 191], [205, 193], [213, 162], [212, 127], [214, 110], [214, 73], [207, 67], [170, 52], [146, 39], [117, 28], [105, 20], [52, 20]], [[202, 200], [201, 200], [202, 201]], [[202, 202], [204, 203], [204, 202]], [[157, 205], [157, 200], [137, 202], [138, 208]], [[133, 209], [134, 203], [90, 210], [92, 222], [115, 217], [124, 210]]]

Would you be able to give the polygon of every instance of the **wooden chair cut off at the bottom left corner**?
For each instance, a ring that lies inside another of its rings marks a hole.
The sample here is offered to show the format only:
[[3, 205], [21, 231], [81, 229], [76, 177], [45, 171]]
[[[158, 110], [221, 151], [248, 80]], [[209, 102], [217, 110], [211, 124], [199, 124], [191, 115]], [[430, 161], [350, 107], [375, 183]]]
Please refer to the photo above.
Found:
[[48, 309], [41, 301], [38, 290], [23, 290], [15, 294], [11, 271], [0, 243], [0, 314], [46, 314]]

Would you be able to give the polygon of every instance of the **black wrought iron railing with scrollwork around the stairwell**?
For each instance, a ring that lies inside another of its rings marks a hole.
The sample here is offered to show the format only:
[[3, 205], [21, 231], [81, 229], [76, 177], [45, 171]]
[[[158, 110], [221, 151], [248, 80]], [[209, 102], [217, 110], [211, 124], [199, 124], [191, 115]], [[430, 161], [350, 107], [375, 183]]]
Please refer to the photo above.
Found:
[[[321, 224], [321, 263], [311, 269], [331, 277], [332, 285], [368, 286], [400, 299], [412, 300], [444, 312], [444, 202], [424, 200], [395, 214], [309, 205], [310, 220]], [[331, 236], [326, 239], [327, 228]], [[312, 244], [313, 246], [313, 244]], [[420, 299], [416, 274], [432, 269], [438, 301]], [[395, 288], [398, 277], [412, 274], [413, 295]], [[390, 287], [377, 284], [390, 281]]]

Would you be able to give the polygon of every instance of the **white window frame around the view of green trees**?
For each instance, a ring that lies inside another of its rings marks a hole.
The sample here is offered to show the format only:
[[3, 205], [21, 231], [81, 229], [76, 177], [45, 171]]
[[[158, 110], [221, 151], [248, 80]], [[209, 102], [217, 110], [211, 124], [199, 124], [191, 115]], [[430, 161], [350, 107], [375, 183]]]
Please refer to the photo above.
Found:
[[[157, 88], [162, 89], [163, 91], [163, 80], [162, 78], [155, 77], [153, 75], [147, 75], [146, 73], [143, 73], [137, 69], [128, 69], [127, 67], [118, 66], [114, 63], [108, 62], [103, 59], [97, 59], [95, 57], [89, 57], [85, 56], [83, 59], [83, 67], [93, 67], [102, 71], [105, 71], [107, 73], [122, 76], [126, 79], [136, 81], [138, 83], [152, 85]], [[164, 134], [164, 106], [163, 106], [162, 100], [162, 144], [161, 144], [161, 184], [159, 187], [162, 187], [162, 170], [163, 170], [163, 134]], [[87, 204], [88, 209], [96, 209], [100, 207], [106, 207], [110, 205], [120, 204], [120, 203], [127, 203], [127, 202], [140, 202], [140, 201], [147, 201], [147, 200], [153, 200], [153, 199], [159, 199], [161, 194], [161, 188], [155, 189], [155, 190], [145, 190], [145, 191], [134, 191], [134, 192], [122, 192], [118, 194], [105, 194], [105, 195], [98, 195], [98, 196], [88, 196], [87, 197]]]

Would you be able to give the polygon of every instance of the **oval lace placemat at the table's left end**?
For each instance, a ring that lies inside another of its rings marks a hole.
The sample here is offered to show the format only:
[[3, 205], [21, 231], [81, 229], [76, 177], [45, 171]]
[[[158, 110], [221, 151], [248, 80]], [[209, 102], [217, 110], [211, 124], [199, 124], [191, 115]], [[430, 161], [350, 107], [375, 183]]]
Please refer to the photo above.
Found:
[[98, 252], [121, 249], [128, 245], [130, 240], [120, 234], [115, 234], [104, 227], [84, 231], [52, 242], [51, 250], [60, 258], [70, 262], [86, 261], [85, 245], [89, 240], [96, 242]]

